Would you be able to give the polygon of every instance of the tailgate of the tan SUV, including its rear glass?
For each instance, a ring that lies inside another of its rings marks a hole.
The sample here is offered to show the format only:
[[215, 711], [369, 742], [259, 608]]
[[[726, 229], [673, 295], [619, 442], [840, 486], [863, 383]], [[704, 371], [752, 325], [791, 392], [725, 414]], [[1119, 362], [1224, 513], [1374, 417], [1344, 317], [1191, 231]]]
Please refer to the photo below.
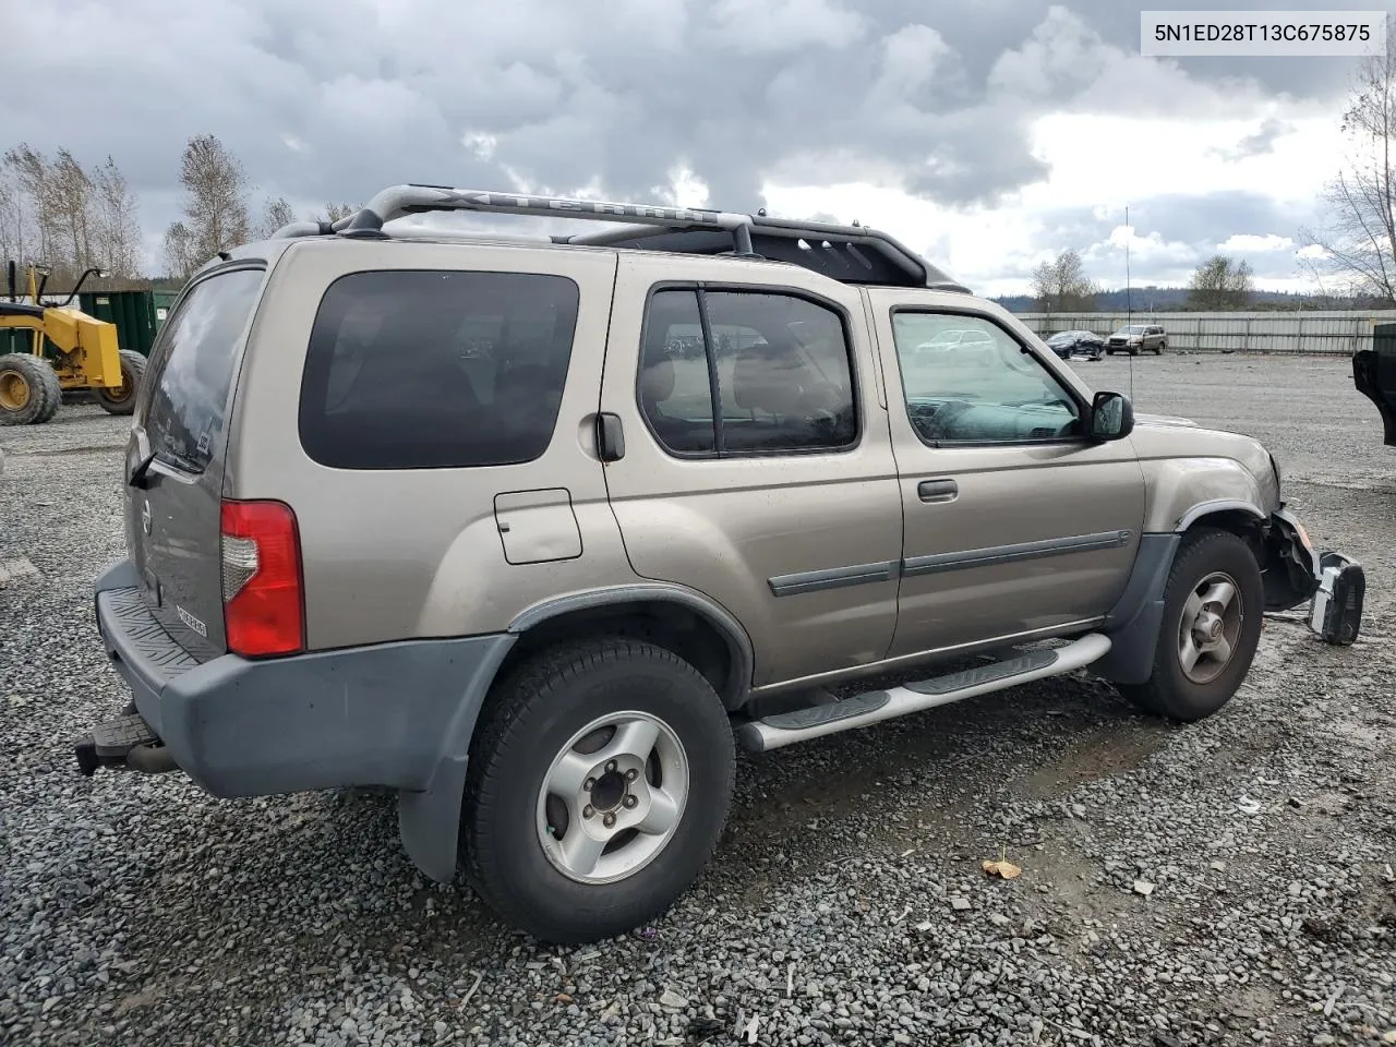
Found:
[[[200, 660], [226, 651], [219, 561], [225, 422], [265, 267], [200, 276], [161, 328], [127, 444], [127, 549], [155, 617]], [[131, 483], [144, 465], [144, 477]]]

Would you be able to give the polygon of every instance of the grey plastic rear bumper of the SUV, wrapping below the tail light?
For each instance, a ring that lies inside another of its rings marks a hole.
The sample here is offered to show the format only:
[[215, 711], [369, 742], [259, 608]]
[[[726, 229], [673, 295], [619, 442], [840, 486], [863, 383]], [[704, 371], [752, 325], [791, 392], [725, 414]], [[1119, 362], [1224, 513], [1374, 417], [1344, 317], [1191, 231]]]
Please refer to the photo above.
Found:
[[[440, 764], [463, 761], [480, 704], [514, 639], [406, 641], [197, 662], [145, 609], [130, 561], [98, 579], [95, 610], [107, 658], [131, 688], [155, 748], [222, 797], [338, 786], [427, 789]], [[80, 743], [80, 765], [88, 741]], [[123, 762], [110, 747], [105, 755], [102, 762]]]

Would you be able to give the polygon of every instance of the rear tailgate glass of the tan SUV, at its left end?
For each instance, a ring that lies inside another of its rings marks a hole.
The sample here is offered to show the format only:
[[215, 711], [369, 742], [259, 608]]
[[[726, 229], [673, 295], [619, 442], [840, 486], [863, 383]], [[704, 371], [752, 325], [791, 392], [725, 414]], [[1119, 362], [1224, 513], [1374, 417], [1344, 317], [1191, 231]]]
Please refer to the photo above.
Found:
[[190, 288], [162, 335], [145, 430], [151, 451], [193, 473], [208, 468], [228, 413], [237, 369], [235, 348], [247, 328], [262, 269], [232, 269]]

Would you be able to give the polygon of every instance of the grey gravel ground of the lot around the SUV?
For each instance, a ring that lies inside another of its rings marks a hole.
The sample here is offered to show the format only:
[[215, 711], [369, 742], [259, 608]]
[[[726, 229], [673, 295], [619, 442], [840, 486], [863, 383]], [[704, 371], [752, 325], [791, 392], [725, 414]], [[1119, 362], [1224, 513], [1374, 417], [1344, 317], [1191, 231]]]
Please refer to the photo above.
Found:
[[1346, 359], [1079, 367], [1266, 440], [1368, 565], [1364, 638], [1272, 620], [1188, 727], [1079, 676], [744, 757], [699, 884], [588, 948], [426, 881], [385, 797], [80, 778], [124, 701], [89, 604], [124, 426], [0, 430], [0, 1043], [1396, 1043], [1396, 451]]

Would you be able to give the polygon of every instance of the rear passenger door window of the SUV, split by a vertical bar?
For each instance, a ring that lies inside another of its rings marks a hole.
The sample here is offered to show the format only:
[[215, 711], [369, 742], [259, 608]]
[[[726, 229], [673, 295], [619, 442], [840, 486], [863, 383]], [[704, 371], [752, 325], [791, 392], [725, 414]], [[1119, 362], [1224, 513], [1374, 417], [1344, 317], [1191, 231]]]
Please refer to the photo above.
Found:
[[859, 436], [843, 318], [794, 295], [656, 292], [638, 392], [680, 455], [835, 451]]

